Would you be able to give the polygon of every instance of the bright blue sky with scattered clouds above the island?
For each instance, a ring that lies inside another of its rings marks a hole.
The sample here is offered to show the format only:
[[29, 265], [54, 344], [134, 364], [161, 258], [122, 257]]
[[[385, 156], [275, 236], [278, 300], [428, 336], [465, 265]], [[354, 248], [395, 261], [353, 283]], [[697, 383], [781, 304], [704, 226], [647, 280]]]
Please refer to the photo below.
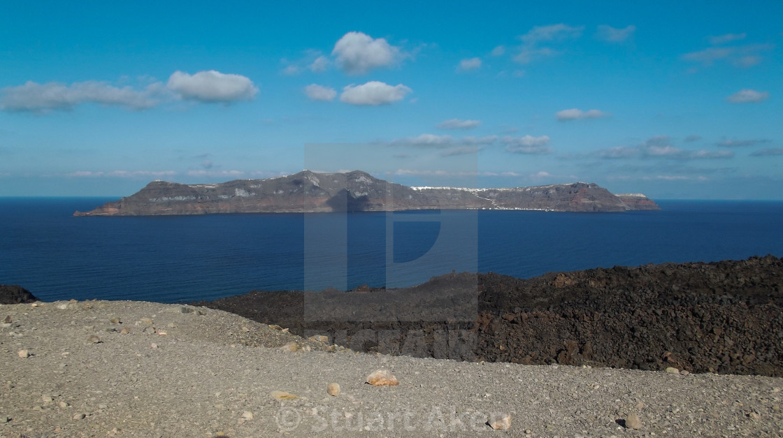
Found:
[[361, 169], [783, 199], [783, 2], [12, 2], [0, 196]]

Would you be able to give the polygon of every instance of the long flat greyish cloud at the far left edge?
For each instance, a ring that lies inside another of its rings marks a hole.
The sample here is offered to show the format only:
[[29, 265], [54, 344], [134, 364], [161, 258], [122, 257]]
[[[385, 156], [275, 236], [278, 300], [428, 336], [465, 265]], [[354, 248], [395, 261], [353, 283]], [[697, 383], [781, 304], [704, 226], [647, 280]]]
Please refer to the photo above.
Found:
[[116, 87], [106, 82], [85, 81], [66, 85], [59, 82], [38, 84], [27, 81], [17, 87], [0, 90], [0, 110], [47, 113], [51, 110], [73, 110], [82, 103], [124, 106], [145, 110], [156, 106], [164, 97], [163, 84], [155, 82], [136, 90], [130, 86]]

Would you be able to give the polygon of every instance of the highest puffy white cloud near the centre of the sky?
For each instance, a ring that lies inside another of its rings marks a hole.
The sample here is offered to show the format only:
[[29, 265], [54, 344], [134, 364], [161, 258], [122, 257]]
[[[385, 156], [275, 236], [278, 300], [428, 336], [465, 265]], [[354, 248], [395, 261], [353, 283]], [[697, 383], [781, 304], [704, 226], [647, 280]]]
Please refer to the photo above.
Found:
[[396, 63], [400, 50], [389, 45], [384, 38], [373, 39], [362, 32], [348, 32], [334, 45], [332, 55], [337, 57], [337, 65], [348, 74], [365, 74]]

